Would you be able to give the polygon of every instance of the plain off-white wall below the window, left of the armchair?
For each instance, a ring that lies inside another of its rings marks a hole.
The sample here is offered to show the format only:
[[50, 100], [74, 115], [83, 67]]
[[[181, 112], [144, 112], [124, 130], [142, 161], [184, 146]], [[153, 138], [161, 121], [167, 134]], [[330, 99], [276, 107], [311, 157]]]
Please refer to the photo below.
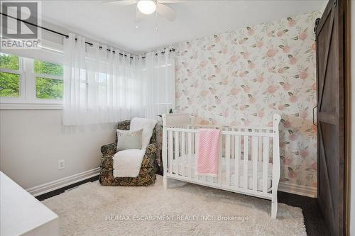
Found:
[[[62, 126], [61, 110], [1, 110], [0, 170], [24, 189], [99, 167], [114, 125]], [[58, 169], [65, 159], [66, 168]]]

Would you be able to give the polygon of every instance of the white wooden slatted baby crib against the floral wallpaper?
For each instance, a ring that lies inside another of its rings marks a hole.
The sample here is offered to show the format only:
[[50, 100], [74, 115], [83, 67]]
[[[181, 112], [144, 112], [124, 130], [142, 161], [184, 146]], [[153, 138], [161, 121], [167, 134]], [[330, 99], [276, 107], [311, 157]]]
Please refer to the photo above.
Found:
[[[271, 217], [275, 219], [280, 179], [279, 123], [278, 114], [273, 115], [273, 128], [195, 125], [188, 114], [164, 114], [164, 189], [168, 187], [168, 179], [178, 179], [266, 198], [271, 200]], [[196, 174], [200, 128], [222, 130], [217, 177]]]

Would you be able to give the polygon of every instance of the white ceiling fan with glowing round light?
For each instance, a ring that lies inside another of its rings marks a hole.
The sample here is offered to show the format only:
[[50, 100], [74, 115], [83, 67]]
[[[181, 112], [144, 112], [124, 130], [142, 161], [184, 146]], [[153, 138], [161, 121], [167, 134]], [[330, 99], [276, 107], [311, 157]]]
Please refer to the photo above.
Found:
[[104, 1], [104, 3], [116, 4], [119, 6], [137, 4], [136, 22], [140, 22], [144, 15], [151, 15], [155, 12], [168, 19], [168, 21], [175, 21], [175, 11], [165, 4], [176, 4], [182, 1], [183, 0], [116, 0]]

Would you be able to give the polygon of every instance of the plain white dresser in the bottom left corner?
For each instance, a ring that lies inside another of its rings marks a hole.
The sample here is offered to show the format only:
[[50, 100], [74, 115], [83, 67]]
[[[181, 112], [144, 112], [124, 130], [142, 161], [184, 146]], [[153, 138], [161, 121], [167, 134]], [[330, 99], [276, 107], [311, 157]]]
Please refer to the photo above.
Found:
[[0, 235], [59, 235], [52, 210], [0, 172]]

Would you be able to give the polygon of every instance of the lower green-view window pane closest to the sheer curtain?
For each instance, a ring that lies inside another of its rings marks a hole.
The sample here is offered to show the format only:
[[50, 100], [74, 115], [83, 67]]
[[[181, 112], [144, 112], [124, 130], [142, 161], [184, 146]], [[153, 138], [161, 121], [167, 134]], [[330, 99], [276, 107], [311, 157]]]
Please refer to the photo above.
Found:
[[62, 99], [63, 81], [60, 79], [36, 77], [35, 90], [38, 99]]

